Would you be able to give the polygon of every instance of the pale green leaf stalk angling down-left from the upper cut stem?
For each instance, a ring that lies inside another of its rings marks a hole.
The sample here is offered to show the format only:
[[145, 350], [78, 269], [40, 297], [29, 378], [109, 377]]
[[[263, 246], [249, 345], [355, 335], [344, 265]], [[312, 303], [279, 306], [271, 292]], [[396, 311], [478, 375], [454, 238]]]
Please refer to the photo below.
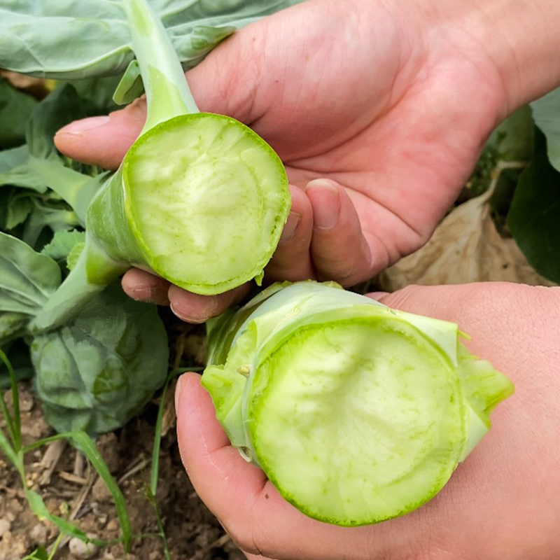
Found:
[[74, 318], [97, 293], [130, 268], [113, 260], [86, 234], [85, 247], [76, 266], [50, 300], [31, 321], [29, 330], [36, 334], [63, 325]]

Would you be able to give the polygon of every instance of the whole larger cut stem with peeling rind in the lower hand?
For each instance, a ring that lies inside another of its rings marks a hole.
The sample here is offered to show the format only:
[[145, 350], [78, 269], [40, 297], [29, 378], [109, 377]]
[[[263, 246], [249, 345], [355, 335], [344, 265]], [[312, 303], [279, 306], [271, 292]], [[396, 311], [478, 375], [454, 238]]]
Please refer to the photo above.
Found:
[[334, 284], [275, 284], [209, 327], [202, 384], [232, 444], [332, 524], [433, 498], [513, 392], [456, 324]]

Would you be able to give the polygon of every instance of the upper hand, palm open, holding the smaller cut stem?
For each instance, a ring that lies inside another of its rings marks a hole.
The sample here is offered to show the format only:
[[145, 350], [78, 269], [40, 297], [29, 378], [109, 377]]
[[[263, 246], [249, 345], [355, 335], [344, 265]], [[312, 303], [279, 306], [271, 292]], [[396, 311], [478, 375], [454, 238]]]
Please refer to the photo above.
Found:
[[[527, 75], [519, 91], [510, 67], [532, 60], [511, 52], [505, 15], [487, 13], [505, 3], [308, 0], [241, 29], [188, 73], [200, 109], [247, 123], [286, 164], [292, 211], [267, 280], [349, 286], [430, 237], [493, 127], [553, 85]], [[555, 79], [543, 57], [533, 66]], [[65, 128], [57, 146], [116, 168], [144, 118], [140, 100]], [[123, 286], [195, 322], [248, 290], [194, 295], [139, 270]]]

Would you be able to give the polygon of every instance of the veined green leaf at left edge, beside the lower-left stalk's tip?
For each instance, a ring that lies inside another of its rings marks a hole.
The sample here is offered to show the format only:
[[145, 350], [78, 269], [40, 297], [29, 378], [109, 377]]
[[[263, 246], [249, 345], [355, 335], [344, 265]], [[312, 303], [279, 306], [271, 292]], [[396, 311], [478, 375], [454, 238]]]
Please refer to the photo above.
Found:
[[35, 315], [60, 283], [52, 258], [0, 232], [0, 311]]

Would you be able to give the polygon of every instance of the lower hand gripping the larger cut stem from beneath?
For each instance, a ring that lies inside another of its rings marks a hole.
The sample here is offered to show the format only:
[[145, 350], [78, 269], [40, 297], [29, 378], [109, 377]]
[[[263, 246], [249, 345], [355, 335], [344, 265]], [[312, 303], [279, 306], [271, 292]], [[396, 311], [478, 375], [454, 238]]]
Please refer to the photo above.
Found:
[[419, 510], [374, 526], [310, 519], [230, 446], [199, 377], [186, 374], [176, 390], [179, 447], [202, 500], [249, 559], [559, 558], [560, 288], [410, 286], [381, 302], [456, 321], [472, 336], [469, 350], [515, 384], [444, 489]]

